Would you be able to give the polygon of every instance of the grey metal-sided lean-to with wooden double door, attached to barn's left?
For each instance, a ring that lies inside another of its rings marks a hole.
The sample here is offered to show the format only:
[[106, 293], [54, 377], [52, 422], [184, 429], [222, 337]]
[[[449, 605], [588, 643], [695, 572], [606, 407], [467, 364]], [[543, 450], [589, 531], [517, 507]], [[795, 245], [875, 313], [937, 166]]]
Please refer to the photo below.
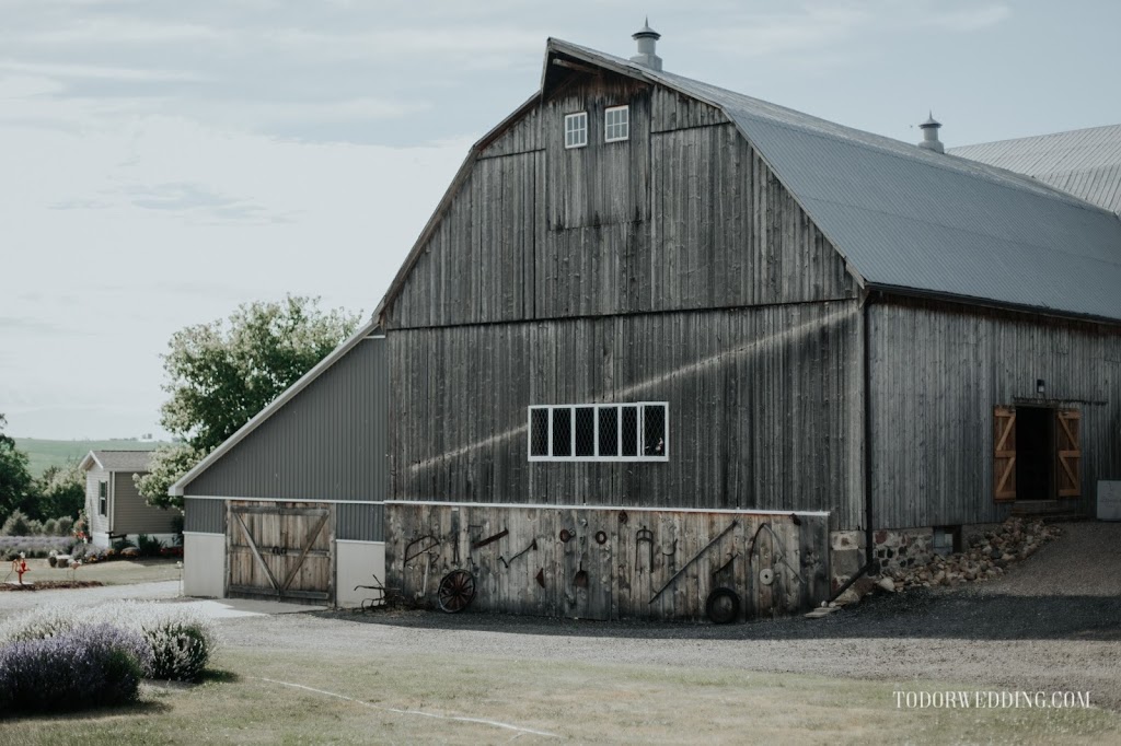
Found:
[[385, 336], [367, 324], [185, 474], [188, 596], [355, 606], [385, 578]]

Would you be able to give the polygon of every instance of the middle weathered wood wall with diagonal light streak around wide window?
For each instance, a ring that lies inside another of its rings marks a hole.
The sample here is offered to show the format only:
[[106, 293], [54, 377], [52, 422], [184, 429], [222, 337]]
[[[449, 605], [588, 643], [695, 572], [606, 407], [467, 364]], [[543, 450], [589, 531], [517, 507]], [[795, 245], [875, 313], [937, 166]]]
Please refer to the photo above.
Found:
[[[390, 333], [395, 500], [827, 510], [863, 525], [856, 301]], [[527, 408], [669, 402], [667, 463], [530, 463]]]

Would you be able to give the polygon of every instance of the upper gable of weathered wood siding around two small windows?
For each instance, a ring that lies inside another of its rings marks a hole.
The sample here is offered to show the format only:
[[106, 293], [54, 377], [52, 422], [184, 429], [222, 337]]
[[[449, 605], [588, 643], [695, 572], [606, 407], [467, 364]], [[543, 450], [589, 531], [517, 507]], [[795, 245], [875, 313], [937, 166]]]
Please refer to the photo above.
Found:
[[[604, 142], [606, 106], [630, 139]], [[564, 114], [589, 144], [564, 148]], [[574, 80], [480, 152], [386, 309], [389, 328], [834, 300], [843, 260], [716, 109]]]

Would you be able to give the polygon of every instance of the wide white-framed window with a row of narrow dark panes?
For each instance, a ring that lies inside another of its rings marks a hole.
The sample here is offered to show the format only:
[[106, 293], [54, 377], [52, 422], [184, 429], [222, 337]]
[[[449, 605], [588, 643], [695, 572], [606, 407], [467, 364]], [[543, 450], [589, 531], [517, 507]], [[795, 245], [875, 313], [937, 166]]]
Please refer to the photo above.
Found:
[[531, 461], [668, 461], [669, 403], [529, 408]]

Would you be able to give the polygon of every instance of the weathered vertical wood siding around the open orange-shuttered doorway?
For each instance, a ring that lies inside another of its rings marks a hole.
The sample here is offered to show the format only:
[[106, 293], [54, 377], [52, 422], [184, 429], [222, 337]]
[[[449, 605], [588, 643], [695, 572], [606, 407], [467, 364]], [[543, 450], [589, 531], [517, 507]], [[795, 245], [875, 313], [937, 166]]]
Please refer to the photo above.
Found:
[[[1121, 332], [924, 301], [871, 307], [878, 528], [1003, 520], [993, 501], [993, 407], [1046, 400], [1082, 412], [1082, 498], [1121, 478]], [[1046, 382], [1044, 397], [1036, 380]]]

